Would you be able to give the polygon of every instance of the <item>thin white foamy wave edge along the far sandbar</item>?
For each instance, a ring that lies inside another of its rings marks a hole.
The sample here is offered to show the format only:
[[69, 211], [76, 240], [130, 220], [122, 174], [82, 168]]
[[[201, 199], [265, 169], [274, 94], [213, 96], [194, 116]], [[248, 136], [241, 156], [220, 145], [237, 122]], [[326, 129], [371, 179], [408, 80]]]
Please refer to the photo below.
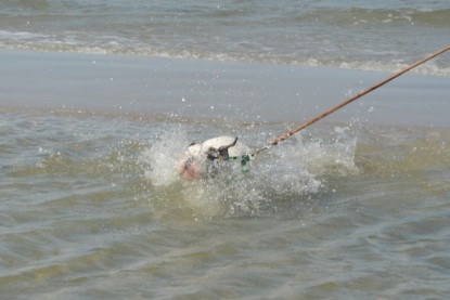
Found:
[[[89, 37], [88, 40], [93, 40]], [[79, 40], [77, 34], [67, 34], [64, 38], [27, 31], [10, 32], [0, 30], [0, 49], [28, 50], [39, 52], [72, 52], [85, 54], [140, 55], [168, 58], [207, 60], [218, 62], [249, 62], [262, 64], [299, 65], [308, 67], [326, 66], [346, 69], [372, 71], [398, 71], [409, 64], [403, 60], [347, 60], [345, 57], [314, 57], [308, 53], [270, 54], [270, 53], [224, 53], [189, 49], [152, 48], [142, 42], [120, 37], [105, 36], [95, 42]], [[385, 55], [387, 56], [387, 55]], [[399, 54], [394, 55], [398, 57]], [[409, 60], [410, 63], [415, 58]], [[428, 62], [412, 70], [421, 75], [450, 76], [450, 66], [446, 63]]]

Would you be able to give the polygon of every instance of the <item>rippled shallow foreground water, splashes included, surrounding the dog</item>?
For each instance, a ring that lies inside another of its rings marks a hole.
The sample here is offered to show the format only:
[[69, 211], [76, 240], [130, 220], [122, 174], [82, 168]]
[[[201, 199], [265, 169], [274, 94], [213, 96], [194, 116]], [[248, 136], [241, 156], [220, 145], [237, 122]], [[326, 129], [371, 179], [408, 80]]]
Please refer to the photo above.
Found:
[[214, 179], [191, 141], [290, 123], [2, 109], [9, 298], [446, 298], [448, 129], [321, 123]]

